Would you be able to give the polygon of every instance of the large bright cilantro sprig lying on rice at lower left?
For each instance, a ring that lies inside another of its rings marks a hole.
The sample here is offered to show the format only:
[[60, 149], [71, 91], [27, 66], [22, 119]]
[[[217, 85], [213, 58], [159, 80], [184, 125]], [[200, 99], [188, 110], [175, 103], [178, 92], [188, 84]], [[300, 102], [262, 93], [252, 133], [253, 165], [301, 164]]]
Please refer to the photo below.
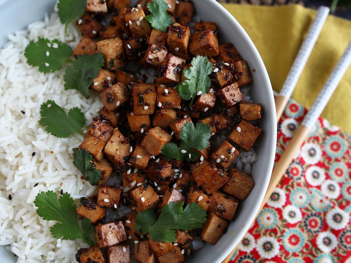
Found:
[[50, 232], [55, 238], [62, 237], [64, 240], [80, 238], [86, 244], [94, 245], [90, 238], [94, 227], [88, 218], [84, 218], [81, 227], [79, 227], [77, 207], [68, 193], [64, 193], [57, 199], [57, 194], [53, 191], [41, 192], [35, 197], [34, 204], [38, 207], [37, 214], [44, 220], [60, 222], [50, 228]]

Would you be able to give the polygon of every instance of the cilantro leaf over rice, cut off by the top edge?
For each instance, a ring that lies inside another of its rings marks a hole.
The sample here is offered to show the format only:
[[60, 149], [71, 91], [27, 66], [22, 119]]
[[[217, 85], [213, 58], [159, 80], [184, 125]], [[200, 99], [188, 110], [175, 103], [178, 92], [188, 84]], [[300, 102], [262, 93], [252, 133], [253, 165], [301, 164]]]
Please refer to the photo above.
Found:
[[87, 0], [59, 0], [58, 15], [62, 24], [68, 24], [82, 15], [87, 7]]

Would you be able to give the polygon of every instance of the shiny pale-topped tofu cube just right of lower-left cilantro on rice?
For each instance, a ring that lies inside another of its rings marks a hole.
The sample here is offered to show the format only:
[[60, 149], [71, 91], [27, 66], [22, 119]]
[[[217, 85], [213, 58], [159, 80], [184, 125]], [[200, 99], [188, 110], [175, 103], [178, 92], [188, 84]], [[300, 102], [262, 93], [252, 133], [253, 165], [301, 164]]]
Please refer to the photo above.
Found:
[[122, 221], [95, 226], [95, 238], [99, 248], [106, 248], [127, 240]]

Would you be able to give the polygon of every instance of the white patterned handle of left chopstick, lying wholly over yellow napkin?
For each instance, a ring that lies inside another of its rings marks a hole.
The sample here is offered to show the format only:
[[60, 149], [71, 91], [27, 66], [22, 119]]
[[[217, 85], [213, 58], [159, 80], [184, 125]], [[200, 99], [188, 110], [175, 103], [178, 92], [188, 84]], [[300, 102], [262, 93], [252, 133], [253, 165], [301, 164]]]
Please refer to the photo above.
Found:
[[304, 69], [307, 59], [309, 58], [313, 46], [317, 41], [318, 35], [322, 30], [324, 22], [329, 14], [330, 9], [326, 6], [320, 6], [316, 17], [314, 18], [312, 25], [307, 32], [306, 38], [303, 41], [299, 52], [291, 66], [290, 72], [286, 77], [284, 85], [280, 90], [280, 95], [286, 98], [290, 98], [291, 94], [299, 80], [302, 70]]

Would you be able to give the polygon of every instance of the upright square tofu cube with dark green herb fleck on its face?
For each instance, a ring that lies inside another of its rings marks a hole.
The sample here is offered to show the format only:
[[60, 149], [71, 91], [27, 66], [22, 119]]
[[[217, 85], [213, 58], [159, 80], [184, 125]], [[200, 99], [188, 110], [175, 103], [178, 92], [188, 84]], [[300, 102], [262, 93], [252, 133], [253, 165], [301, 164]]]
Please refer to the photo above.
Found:
[[156, 103], [156, 88], [154, 84], [134, 83], [133, 85], [133, 112], [137, 115], [154, 113]]

